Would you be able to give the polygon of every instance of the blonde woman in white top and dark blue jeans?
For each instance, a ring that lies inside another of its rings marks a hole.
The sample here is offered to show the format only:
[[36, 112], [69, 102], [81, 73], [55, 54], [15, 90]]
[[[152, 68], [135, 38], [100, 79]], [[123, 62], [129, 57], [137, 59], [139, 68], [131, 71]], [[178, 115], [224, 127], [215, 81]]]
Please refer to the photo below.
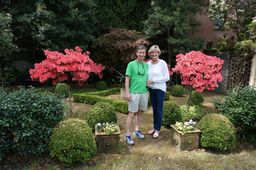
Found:
[[165, 100], [166, 82], [170, 80], [167, 64], [159, 59], [161, 51], [157, 45], [148, 50], [148, 55], [152, 58], [148, 61], [147, 86], [150, 94], [150, 101], [153, 107], [154, 128], [148, 131], [148, 135], [158, 138], [163, 119], [163, 102]]

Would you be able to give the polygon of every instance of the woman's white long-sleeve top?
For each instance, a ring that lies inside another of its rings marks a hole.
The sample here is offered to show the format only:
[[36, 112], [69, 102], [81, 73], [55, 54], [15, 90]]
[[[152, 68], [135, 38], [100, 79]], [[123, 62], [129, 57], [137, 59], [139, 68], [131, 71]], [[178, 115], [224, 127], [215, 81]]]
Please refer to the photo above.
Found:
[[151, 61], [147, 62], [147, 79], [153, 79], [154, 83], [149, 85], [148, 88], [157, 88], [166, 92], [166, 82], [170, 80], [167, 64], [164, 60], [161, 60], [159, 63], [153, 65], [151, 64]]

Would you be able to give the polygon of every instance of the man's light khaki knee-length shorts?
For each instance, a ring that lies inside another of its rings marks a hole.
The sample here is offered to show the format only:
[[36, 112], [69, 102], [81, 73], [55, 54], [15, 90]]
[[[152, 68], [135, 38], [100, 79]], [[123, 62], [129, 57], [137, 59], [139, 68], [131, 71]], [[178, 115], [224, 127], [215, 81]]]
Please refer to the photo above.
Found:
[[128, 105], [128, 111], [132, 113], [138, 110], [146, 111], [148, 102], [148, 93], [130, 93], [131, 101]]

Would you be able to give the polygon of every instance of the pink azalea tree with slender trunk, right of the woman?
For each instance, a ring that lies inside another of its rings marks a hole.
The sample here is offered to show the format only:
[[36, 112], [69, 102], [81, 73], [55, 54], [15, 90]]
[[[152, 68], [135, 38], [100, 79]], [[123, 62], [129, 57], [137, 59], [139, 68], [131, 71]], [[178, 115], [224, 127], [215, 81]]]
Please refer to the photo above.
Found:
[[203, 92], [205, 88], [214, 90], [215, 87], [218, 87], [217, 82], [221, 82], [223, 79], [221, 69], [224, 61], [220, 58], [207, 56], [200, 51], [191, 51], [185, 55], [178, 54], [176, 57], [177, 64], [172, 71], [181, 74], [182, 84], [191, 86], [189, 101], [192, 88], [198, 92]]

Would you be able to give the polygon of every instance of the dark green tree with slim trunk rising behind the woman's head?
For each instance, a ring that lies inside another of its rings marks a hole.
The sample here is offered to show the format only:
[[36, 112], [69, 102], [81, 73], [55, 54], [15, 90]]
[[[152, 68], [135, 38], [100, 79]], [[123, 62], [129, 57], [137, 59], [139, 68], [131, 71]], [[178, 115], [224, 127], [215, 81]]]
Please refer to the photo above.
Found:
[[204, 0], [153, 0], [152, 12], [144, 23], [146, 38], [161, 44], [164, 41], [168, 48], [169, 64], [173, 53], [186, 53], [200, 50], [203, 39], [192, 39], [189, 35], [200, 25], [196, 14], [201, 11]]

